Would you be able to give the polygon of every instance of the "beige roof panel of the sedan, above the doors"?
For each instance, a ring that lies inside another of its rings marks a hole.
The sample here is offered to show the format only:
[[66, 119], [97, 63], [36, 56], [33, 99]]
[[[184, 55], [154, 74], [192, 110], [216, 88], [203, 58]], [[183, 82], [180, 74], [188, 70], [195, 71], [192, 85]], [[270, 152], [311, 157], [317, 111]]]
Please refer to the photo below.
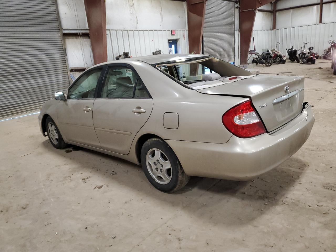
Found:
[[[98, 65], [106, 65], [111, 63], [127, 63], [129, 60], [139, 60], [150, 65], [159, 64], [179, 59], [192, 59], [198, 57], [210, 57], [204, 54], [196, 54], [196, 53], [175, 53], [175, 54], [156, 54], [156, 55], [147, 55], [147, 56], [139, 56], [139, 57], [132, 57], [132, 58], [125, 58], [125, 59], [118, 59], [108, 62], [103, 62]], [[96, 66], [98, 66], [96, 65]]]

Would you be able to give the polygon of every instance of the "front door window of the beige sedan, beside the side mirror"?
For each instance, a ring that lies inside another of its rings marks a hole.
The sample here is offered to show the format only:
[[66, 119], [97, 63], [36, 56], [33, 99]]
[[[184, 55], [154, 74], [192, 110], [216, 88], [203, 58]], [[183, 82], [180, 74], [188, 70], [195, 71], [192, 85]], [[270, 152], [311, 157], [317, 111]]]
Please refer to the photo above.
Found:
[[96, 68], [84, 74], [70, 88], [68, 99], [87, 99], [94, 98], [94, 92], [98, 83], [102, 68]]

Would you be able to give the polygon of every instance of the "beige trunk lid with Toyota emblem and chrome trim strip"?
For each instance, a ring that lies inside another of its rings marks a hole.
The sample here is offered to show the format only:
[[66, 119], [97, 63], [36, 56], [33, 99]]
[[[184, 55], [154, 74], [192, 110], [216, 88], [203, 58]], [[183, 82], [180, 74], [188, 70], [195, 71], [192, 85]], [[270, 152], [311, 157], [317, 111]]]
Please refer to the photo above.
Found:
[[[211, 95], [249, 97], [268, 132], [291, 121], [302, 111], [304, 77], [256, 75], [197, 90]], [[225, 112], [225, 111], [224, 111]]]

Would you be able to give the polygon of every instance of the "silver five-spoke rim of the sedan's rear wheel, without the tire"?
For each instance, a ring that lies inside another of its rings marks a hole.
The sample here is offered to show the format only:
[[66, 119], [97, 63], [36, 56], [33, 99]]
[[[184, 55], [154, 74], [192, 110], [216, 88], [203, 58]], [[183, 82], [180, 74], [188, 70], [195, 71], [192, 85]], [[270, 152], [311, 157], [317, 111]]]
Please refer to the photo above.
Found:
[[159, 184], [168, 184], [172, 177], [171, 164], [159, 149], [151, 149], [146, 155], [146, 165], [152, 178]]

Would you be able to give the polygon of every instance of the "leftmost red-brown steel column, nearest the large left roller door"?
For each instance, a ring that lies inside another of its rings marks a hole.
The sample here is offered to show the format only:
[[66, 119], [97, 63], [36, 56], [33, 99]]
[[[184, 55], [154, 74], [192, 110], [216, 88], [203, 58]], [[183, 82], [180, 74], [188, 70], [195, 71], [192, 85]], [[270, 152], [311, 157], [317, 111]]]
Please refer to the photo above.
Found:
[[94, 64], [107, 61], [105, 0], [84, 0]]

